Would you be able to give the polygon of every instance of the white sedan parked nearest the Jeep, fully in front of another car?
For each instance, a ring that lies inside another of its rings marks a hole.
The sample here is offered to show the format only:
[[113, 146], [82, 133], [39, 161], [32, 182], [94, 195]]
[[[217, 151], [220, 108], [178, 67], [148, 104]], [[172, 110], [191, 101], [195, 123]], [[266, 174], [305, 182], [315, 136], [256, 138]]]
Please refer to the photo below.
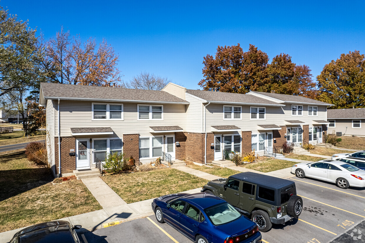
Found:
[[323, 181], [334, 182], [338, 187], [365, 187], [365, 171], [342, 161], [321, 160], [312, 163], [293, 165], [292, 173], [299, 178], [311, 177]]

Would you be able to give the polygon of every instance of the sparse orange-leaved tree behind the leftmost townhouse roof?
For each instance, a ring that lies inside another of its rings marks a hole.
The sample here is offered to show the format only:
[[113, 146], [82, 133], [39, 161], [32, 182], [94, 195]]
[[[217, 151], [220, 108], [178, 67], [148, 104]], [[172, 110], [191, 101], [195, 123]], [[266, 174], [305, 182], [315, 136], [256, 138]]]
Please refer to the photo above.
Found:
[[119, 56], [113, 47], [103, 41], [97, 45], [95, 39], [82, 42], [80, 36], [70, 36], [61, 30], [47, 41], [41, 40], [45, 50], [42, 66], [48, 82], [107, 86], [121, 82], [116, 67]]

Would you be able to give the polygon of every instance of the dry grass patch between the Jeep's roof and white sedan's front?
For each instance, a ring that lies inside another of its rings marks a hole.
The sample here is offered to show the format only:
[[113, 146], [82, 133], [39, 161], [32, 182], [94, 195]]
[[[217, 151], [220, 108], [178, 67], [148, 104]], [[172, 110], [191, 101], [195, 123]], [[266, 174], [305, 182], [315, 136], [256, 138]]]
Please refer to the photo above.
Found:
[[241, 167], [245, 167], [251, 170], [258, 170], [261, 172], [270, 172], [275, 170], [281, 170], [288, 167], [292, 167], [293, 165], [297, 164], [297, 162], [293, 161], [286, 161], [281, 159], [271, 159], [271, 158], [264, 158], [261, 161], [257, 161], [254, 163], [247, 163], [243, 165], [239, 165]]

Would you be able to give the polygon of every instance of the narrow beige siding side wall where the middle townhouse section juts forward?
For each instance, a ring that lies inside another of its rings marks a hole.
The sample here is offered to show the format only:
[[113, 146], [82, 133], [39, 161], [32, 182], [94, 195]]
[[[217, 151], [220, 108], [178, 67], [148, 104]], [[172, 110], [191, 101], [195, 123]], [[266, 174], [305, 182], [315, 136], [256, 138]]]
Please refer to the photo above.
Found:
[[[187, 105], [186, 109], [186, 131], [187, 132], [202, 132], [202, 121], [203, 121], [203, 104], [200, 100], [186, 95], [186, 101], [190, 104]], [[208, 117], [208, 114], [207, 114]]]

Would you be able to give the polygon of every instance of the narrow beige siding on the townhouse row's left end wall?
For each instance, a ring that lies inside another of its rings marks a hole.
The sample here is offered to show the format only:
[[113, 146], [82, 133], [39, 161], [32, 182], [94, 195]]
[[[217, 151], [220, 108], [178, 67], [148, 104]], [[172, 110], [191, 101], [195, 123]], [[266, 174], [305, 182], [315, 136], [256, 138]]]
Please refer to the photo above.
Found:
[[53, 176], [55, 176], [55, 158], [54, 158], [54, 133], [55, 133], [55, 127], [54, 127], [54, 115], [55, 109], [54, 109], [54, 102], [52, 100], [47, 100], [46, 103], [46, 141], [47, 141], [47, 157], [48, 157], [48, 163], [51, 168], [51, 171], [53, 173]]

